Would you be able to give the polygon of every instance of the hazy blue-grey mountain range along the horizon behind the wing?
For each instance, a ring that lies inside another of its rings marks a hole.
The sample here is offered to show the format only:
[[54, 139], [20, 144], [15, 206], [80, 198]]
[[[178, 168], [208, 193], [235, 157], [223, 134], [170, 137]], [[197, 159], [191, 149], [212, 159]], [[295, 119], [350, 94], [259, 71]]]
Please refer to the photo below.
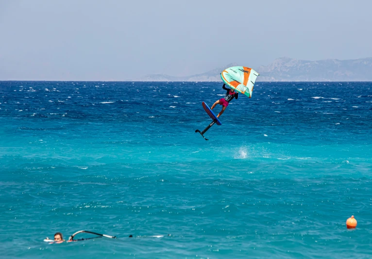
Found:
[[[221, 81], [220, 73], [223, 69], [234, 66], [238, 64], [232, 63], [202, 74], [182, 77], [147, 75], [138, 81]], [[283, 57], [275, 59], [268, 66], [253, 69], [260, 74], [257, 81], [372, 81], [372, 58], [308, 61]]]

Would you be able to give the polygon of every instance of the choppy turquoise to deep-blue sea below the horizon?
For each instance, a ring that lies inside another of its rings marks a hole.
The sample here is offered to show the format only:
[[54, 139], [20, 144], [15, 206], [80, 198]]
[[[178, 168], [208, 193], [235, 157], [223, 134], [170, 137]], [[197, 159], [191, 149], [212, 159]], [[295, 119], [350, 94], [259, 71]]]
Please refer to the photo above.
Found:
[[221, 86], [0, 82], [2, 257], [372, 257], [372, 83]]

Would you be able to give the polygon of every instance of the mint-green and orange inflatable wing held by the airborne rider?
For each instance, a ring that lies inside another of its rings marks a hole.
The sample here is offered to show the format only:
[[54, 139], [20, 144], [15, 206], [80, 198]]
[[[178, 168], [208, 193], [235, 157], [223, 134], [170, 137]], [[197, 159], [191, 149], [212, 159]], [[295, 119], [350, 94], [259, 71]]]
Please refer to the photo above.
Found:
[[247, 67], [231, 67], [221, 73], [222, 81], [227, 86], [245, 94], [249, 98], [252, 96], [257, 76], [259, 76], [259, 73]]

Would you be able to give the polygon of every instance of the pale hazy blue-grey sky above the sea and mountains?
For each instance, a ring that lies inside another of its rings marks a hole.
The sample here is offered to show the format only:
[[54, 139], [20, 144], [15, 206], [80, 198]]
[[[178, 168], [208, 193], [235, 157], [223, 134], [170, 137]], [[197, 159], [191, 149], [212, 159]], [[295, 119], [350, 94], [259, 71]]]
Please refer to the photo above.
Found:
[[0, 80], [371, 57], [371, 10], [371, 0], [0, 0]]

